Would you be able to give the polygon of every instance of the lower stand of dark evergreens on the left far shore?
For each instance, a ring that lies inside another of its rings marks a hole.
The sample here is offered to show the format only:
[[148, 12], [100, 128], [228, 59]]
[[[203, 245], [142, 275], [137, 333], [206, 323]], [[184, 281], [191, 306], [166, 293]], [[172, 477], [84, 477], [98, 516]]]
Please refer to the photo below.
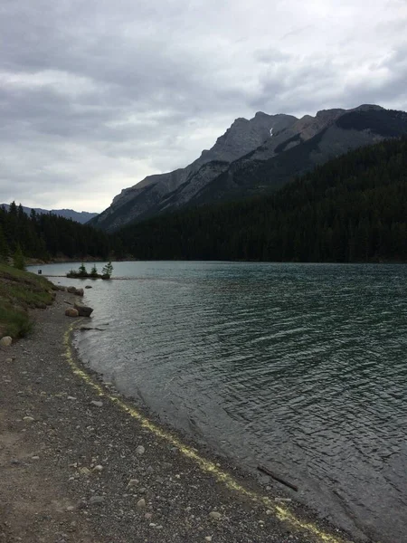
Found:
[[13, 202], [8, 211], [0, 207], [0, 259], [13, 256], [17, 249], [26, 257], [44, 261], [55, 257], [105, 259], [111, 252], [122, 256], [116, 236], [54, 214], [32, 210], [27, 215], [22, 205]]

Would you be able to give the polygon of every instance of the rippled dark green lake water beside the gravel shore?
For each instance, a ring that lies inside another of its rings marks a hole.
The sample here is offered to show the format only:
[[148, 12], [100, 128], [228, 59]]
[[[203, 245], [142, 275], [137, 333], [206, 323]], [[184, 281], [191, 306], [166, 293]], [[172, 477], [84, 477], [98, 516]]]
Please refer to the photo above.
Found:
[[406, 265], [114, 268], [132, 281], [53, 279], [93, 287], [90, 367], [354, 534], [407, 541]]

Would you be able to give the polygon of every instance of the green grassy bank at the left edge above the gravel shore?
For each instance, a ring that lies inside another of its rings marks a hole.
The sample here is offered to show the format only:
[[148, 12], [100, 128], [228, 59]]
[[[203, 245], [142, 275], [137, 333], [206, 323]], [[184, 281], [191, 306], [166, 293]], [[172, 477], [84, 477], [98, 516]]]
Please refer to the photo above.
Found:
[[22, 338], [33, 329], [29, 308], [45, 308], [54, 298], [52, 282], [0, 263], [0, 337]]

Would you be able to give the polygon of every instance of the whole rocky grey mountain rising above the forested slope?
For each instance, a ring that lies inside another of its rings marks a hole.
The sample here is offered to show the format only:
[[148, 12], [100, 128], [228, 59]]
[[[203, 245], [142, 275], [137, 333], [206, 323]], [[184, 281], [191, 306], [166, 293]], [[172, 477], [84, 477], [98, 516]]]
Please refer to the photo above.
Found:
[[330, 158], [407, 133], [407, 114], [364, 104], [315, 117], [258, 112], [236, 119], [191, 165], [122, 190], [90, 224], [109, 232], [186, 205], [267, 193]]

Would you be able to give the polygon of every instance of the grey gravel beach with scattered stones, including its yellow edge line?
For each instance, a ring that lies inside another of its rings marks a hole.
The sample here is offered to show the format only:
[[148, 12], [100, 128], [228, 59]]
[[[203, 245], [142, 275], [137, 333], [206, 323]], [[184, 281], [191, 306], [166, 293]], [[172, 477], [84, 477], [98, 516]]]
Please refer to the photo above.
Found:
[[67, 330], [90, 320], [65, 317], [74, 302], [57, 292], [29, 338], [0, 348], [0, 543], [351, 540], [84, 369]]

